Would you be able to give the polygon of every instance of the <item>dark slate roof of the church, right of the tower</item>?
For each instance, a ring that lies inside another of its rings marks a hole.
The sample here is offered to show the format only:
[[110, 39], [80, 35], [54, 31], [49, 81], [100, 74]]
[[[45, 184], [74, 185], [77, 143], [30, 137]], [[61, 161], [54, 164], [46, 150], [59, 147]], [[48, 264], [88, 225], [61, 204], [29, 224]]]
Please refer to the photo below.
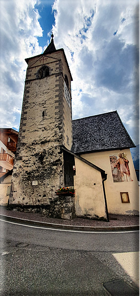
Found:
[[73, 120], [72, 132], [77, 154], [136, 147], [117, 111]]

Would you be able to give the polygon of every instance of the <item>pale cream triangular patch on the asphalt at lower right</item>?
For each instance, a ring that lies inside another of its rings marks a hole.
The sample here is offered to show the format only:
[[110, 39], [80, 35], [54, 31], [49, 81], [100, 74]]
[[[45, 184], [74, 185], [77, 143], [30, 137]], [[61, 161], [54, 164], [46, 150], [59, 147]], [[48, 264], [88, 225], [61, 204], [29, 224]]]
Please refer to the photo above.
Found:
[[136, 285], [139, 286], [140, 252], [112, 253], [112, 255], [132, 278]]

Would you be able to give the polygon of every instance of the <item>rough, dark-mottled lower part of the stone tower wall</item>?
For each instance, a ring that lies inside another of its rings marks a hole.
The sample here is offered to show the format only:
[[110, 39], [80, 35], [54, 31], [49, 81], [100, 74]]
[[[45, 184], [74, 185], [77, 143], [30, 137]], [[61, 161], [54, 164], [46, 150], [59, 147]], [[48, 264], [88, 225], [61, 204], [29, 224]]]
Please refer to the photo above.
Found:
[[49, 205], [64, 186], [63, 151], [49, 144], [42, 152], [36, 151], [36, 145], [27, 151], [15, 159], [9, 205]]

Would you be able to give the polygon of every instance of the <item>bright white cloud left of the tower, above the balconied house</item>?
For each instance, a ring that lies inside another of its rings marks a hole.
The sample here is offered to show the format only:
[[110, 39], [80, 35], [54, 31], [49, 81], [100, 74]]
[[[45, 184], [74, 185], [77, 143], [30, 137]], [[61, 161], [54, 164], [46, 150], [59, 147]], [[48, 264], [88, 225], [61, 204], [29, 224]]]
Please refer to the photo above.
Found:
[[25, 58], [42, 53], [36, 0], [0, 1], [1, 127], [18, 129], [24, 91]]

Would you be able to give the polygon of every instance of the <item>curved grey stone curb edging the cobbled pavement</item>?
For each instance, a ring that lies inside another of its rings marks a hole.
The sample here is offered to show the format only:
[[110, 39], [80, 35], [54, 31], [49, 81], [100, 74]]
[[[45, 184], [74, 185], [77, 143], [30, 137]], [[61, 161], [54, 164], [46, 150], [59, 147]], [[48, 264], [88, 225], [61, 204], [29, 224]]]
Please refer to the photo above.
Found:
[[80, 231], [113, 231], [113, 230], [140, 230], [139, 225], [124, 225], [124, 226], [79, 226], [79, 225], [65, 225], [65, 224], [57, 224], [57, 223], [49, 223], [49, 222], [39, 222], [39, 221], [30, 221], [24, 220], [21, 218], [10, 217], [6, 215], [0, 214], [0, 219], [3, 219], [7, 222], [17, 222], [21, 224], [27, 225], [35, 225], [39, 227], [53, 227], [54, 230], [56, 229], [64, 229], [64, 230], [80, 230]]

